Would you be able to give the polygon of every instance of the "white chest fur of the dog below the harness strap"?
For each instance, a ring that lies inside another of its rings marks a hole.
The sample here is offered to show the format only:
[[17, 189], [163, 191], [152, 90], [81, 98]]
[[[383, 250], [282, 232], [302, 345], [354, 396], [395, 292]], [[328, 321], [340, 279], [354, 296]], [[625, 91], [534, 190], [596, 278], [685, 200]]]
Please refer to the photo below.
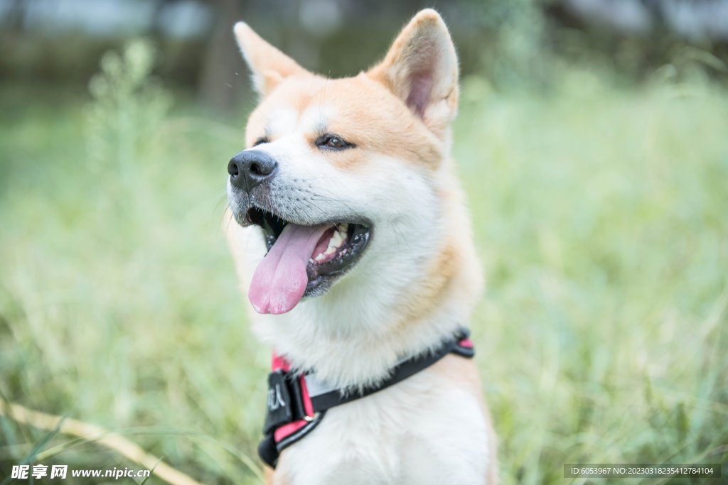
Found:
[[474, 391], [435, 364], [329, 409], [312, 433], [282, 452], [273, 483], [485, 484], [491, 444]]

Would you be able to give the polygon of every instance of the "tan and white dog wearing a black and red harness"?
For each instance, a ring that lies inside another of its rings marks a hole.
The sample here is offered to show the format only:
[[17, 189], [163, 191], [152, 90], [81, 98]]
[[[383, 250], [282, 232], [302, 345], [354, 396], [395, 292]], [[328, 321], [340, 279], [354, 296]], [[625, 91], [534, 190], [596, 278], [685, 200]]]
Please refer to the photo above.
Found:
[[[462, 356], [483, 281], [449, 157], [448, 28], [424, 9], [381, 63], [344, 79], [245, 23], [234, 35], [261, 101], [228, 164], [226, 237], [253, 332], [274, 349], [268, 483], [496, 484], [494, 430]], [[334, 406], [318, 412], [324, 391]]]

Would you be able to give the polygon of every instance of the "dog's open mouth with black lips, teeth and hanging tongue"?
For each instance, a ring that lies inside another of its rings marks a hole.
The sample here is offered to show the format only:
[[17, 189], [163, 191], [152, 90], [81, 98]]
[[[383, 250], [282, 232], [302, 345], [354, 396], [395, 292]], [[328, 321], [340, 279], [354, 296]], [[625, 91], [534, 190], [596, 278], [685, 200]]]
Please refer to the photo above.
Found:
[[285, 313], [325, 292], [360, 259], [371, 236], [371, 225], [353, 220], [298, 225], [258, 207], [245, 217], [263, 228], [268, 247], [248, 292], [258, 313]]

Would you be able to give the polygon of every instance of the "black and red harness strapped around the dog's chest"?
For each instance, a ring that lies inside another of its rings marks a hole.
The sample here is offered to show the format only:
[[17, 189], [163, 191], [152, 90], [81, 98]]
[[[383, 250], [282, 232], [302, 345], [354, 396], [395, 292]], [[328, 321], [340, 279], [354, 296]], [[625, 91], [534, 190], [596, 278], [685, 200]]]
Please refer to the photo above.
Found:
[[273, 372], [268, 374], [268, 399], [266, 420], [263, 426], [264, 438], [258, 444], [261, 460], [272, 468], [283, 449], [300, 440], [323, 420], [328, 409], [363, 398], [378, 390], [388, 388], [417, 372], [435, 364], [440, 358], [455, 353], [471, 358], [475, 355], [470, 332], [461, 329], [451, 339], [430, 353], [406, 358], [397, 363], [391, 375], [379, 385], [357, 390], [331, 388], [320, 382], [314, 372], [305, 374], [290, 371], [290, 365], [273, 356]]

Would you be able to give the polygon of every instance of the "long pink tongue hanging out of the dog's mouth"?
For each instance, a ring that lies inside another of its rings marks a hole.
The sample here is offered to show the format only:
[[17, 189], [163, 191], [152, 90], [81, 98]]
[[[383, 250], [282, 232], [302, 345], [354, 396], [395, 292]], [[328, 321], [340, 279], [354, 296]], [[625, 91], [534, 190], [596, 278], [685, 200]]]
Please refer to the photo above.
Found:
[[248, 298], [258, 313], [285, 313], [301, 301], [309, 277], [306, 265], [328, 225], [288, 223], [253, 273]]

